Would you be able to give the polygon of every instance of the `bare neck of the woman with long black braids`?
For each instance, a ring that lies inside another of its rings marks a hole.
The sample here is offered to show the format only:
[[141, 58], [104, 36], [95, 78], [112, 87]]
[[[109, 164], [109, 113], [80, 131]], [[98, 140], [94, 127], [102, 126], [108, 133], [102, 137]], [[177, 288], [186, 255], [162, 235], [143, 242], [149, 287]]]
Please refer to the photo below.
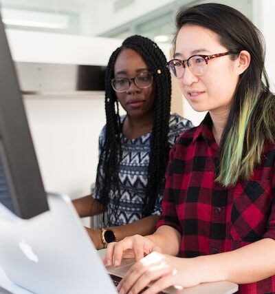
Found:
[[127, 115], [122, 126], [122, 134], [128, 139], [135, 139], [151, 132], [152, 129], [153, 114], [142, 116], [142, 118]]

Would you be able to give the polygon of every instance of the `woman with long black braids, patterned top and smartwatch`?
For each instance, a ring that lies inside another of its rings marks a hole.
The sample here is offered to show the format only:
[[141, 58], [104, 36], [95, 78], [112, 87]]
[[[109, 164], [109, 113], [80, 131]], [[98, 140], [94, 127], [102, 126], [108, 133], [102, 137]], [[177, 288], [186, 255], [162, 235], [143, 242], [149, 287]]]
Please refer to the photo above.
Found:
[[[74, 200], [81, 217], [104, 213], [101, 229], [87, 229], [96, 248], [127, 235], [155, 231], [160, 218], [168, 151], [189, 120], [170, 115], [170, 73], [157, 45], [130, 36], [109, 59], [105, 76], [107, 123], [92, 197]], [[118, 103], [126, 111], [120, 116]]]

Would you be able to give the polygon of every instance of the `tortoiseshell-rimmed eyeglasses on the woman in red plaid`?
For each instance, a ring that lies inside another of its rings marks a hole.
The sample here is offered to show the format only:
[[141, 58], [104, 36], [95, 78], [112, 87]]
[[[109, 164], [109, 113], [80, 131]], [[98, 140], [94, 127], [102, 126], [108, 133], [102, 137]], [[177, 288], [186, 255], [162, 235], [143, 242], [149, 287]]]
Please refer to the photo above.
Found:
[[232, 52], [218, 53], [212, 55], [192, 55], [186, 60], [172, 59], [166, 63], [166, 67], [173, 76], [181, 78], [184, 75], [184, 69], [187, 66], [196, 76], [203, 75], [207, 70], [208, 60], [217, 57], [233, 54]]

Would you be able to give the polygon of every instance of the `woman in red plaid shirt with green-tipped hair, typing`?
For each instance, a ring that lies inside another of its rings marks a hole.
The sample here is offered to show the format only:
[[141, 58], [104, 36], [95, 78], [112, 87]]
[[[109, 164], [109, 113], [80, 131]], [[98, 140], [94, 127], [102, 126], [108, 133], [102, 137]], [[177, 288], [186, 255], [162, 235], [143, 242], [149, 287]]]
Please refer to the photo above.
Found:
[[275, 96], [263, 38], [217, 3], [181, 8], [176, 25], [167, 66], [192, 108], [208, 114], [170, 151], [155, 233], [109, 244], [104, 262], [118, 265], [131, 249], [139, 260], [120, 293], [222, 280], [242, 294], [275, 293]]

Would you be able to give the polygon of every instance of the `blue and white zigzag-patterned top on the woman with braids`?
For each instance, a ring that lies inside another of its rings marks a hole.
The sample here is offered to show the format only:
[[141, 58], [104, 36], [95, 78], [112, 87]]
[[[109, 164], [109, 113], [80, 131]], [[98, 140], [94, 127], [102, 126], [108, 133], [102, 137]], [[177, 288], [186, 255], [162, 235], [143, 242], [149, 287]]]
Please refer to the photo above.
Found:
[[[121, 116], [123, 122], [125, 116]], [[181, 118], [178, 114], [171, 114], [169, 120], [168, 143], [171, 147], [176, 138], [182, 132], [192, 127], [190, 120]], [[150, 156], [150, 138], [151, 132], [144, 134], [140, 138], [127, 139], [120, 134], [120, 142], [122, 148], [122, 158], [119, 167], [119, 185], [120, 185], [120, 201], [117, 209], [115, 207], [115, 195], [109, 192], [109, 204], [107, 205], [105, 220], [109, 220], [108, 227], [129, 224], [135, 220], [142, 218], [142, 204], [146, 193], [148, 162]], [[102, 151], [105, 141], [105, 127], [102, 129], [99, 137], [99, 154]], [[102, 174], [102, 168], [100, 169]], [[102, 189], [102, 178], [99, 178], [99, 185], [91, 191], [91, 195], [100, 202], [100, 189]], [[155, 202], [153, 215], [160, 216], [162, 211], [162, 191]], [[114, 215], [115, 213], [115, 215]], [[115, 221], [116, 216], [116, 221]]]

